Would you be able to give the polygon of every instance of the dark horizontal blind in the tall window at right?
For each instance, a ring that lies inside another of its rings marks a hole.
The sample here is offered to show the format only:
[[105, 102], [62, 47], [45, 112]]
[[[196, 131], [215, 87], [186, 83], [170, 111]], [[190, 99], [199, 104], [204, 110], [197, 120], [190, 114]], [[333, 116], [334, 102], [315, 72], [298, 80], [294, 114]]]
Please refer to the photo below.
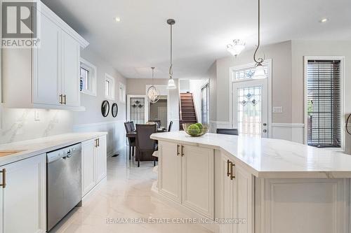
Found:
[[308, 60], [308, 145], [340, 147], [340, 102], [340, 60]]

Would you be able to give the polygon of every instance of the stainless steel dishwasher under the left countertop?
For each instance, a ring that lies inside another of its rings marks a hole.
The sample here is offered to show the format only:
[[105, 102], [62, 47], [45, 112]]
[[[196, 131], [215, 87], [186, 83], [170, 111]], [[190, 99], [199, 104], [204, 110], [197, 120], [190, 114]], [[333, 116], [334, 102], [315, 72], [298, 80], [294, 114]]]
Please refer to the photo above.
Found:
[[46, 154], [46, 230], [81, 204], [81, 143]]

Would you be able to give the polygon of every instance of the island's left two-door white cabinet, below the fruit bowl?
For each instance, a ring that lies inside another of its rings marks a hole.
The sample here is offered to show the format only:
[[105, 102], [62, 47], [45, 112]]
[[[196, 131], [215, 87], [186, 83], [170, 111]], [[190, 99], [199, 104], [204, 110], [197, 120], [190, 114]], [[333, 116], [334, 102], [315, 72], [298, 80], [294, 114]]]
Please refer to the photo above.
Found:
[[202, 216], [214, 216], [213, 150], [162, 141], [159, 192]]

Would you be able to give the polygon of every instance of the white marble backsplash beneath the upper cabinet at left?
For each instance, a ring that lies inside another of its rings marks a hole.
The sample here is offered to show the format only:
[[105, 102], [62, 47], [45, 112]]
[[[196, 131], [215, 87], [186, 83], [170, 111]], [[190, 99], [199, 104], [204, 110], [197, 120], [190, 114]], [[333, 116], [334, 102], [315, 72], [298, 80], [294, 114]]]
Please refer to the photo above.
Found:
[[[34, 119], [34, 115], [39, 120]], [[0, 143], [11, 143], [72, 132], [72, 112], [0, 107]]]

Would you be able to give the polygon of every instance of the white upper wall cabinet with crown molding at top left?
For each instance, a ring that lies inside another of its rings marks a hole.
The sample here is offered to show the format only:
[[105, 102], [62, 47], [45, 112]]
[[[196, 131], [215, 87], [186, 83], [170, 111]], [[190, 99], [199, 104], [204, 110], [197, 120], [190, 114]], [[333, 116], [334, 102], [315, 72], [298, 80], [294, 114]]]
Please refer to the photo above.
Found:
[[80, 49], [88, 42], [40, 1], [39, 46], [3, 49], [3, 101], [8, 108], [84, 110], [80, 106]]

